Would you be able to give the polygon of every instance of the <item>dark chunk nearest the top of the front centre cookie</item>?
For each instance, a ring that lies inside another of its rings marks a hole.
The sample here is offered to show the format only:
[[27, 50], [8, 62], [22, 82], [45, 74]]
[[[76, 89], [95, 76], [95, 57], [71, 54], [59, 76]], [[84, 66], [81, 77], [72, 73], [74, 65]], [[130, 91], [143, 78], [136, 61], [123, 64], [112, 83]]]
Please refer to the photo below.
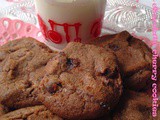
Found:
[[75, 67], [78, 67], [80, 62], [79, 62], [78, 59], [69, 58], [69, 59], [67, 59], [67, 63], [66, 64], [67, 64], [67, 70], [71, 70], [71, 69], [73, 69]]

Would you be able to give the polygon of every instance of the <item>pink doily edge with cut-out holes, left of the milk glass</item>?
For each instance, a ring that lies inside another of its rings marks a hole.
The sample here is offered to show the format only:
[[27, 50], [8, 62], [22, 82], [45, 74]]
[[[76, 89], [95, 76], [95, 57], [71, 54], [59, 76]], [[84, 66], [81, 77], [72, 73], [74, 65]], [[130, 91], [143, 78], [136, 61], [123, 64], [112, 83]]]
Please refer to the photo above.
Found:
[[0, 19], [0, 29], [0, 45], [22, 37], [33, 37], [41, 42], [44, 41], [40, 29], [21, 20], [2, 18]]

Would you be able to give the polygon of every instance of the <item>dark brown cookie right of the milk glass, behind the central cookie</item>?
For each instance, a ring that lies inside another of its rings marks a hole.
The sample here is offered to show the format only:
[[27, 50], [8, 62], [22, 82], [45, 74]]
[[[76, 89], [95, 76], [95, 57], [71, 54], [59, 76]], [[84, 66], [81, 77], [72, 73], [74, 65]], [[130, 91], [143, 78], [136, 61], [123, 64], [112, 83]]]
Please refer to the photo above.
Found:
[[150, 84], [152, 50], [142, 40], [124, 31], [97, 38], [90, 44], [110, 49], [116, 54], [125, 87], [142, 90]]

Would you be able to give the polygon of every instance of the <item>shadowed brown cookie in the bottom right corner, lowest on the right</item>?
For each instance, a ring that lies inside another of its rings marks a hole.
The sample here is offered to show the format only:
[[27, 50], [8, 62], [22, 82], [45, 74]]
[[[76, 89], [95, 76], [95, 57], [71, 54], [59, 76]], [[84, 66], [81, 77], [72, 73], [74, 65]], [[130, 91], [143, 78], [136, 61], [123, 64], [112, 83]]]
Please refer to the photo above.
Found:
[[[160, 105], [160, 103], [157, 103]], [[113, 120], [159, 120], [160, 107], [157, 110], [157, 117], [152, 116], [152, 97], [146, 93], [126, 91], [116, 110], [113, 113]]]

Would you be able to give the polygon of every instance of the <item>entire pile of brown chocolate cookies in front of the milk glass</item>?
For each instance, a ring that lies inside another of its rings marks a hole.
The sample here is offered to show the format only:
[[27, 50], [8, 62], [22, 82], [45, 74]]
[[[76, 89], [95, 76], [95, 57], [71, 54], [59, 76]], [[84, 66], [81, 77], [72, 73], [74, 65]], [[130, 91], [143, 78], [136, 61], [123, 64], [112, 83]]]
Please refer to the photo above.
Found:
[[151, 74], [151, 49], [125, 31], [61, 52], [11, 41], [0, 47], [0, 120], [152, 120]]

